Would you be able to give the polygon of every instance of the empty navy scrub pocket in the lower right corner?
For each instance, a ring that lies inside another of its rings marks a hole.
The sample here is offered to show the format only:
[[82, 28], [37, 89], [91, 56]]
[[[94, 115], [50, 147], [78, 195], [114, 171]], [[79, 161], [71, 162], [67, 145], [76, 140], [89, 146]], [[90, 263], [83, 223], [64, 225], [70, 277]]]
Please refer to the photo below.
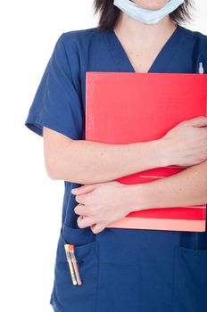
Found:
[[175, 246], [172, 312], [207, 311], [207, 250]]

